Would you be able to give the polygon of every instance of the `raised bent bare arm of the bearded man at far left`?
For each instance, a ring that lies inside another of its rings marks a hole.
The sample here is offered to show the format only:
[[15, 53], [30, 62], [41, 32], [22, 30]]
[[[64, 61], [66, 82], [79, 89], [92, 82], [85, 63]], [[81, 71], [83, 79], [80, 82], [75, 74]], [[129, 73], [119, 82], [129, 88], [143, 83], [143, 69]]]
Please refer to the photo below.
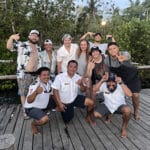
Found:
[[20, 39], [19, 34], [11, 35], [7, 41], [6, 48], [8, 50], [12, 50], [13, 49], [13, 41], [18, 41], [19, 39]]

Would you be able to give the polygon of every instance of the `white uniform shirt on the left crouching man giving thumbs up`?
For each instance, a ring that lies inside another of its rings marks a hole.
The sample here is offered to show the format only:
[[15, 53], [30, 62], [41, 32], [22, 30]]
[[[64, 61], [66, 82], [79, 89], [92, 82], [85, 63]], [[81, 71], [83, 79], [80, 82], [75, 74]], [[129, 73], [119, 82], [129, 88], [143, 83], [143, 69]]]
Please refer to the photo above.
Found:
[[47, 108], [47, 105], [49, 102], [49, 97], [50, 97], [50, 94], [52, 91], [51, 84], [52, 84], [52, 82], [50, 80], [47, 84], [44, 84], [44, 83], [40, 82], [40, 80], [38, 80], [38, 81], [36, 81], [35, 84], [30, 85], [27, 98], [37, 89], [37, 87], [39, 85], [43, 88], [43, 91], [42, 91], [42, 93], [37, 94], [37, 96], [35, 97], [35, 100], [32, 103], [28, 103], [27, 98], [26, 98], [24, 107], [25, 108], [33, 108], [34, 107], [34, 108], [40, 108], [40, 109]]

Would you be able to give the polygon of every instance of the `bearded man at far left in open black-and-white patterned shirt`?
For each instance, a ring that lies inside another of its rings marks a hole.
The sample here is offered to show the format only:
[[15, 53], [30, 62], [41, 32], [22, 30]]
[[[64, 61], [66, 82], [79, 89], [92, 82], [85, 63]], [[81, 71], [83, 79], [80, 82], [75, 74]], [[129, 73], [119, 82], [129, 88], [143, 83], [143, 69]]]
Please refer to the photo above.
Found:
[[19, 41], [19, 34], [13, 34], [7, 41], [7, 49], [17, 51], [17, 82], [19, 94], [21, 96], [21, 104], [24, 112], [24, 117], [28, 117], [24, 111], [24, 102], [28, 92], [29, 85], [35, 79], [34, 72], [39, 67], [39, 51], [41, 48], [37, 45], [39, 41], [39, 31], [31, 30], [28, 36], [28, 41]]

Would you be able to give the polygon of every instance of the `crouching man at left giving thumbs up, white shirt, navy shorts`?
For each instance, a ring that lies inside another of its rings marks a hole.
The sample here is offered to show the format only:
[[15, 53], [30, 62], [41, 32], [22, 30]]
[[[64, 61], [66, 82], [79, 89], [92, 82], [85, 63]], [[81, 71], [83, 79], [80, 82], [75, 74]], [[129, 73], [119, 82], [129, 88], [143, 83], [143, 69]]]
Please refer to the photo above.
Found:
[[37, 126], [44, 125], [49, 120], [45, 109], [49, 104], [52, 84], [49, 68], [41, 67], [37, 74], [38, 79], [30, 85], [24, 106], [27, 115], [34, 119], [31, 123], [33, 134], [39, 133]]

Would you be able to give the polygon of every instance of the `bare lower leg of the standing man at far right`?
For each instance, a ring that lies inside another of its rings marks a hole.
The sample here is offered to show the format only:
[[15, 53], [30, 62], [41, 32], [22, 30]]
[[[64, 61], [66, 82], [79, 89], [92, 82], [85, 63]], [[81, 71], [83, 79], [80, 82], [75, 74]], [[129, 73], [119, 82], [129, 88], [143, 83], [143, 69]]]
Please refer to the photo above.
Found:
[[138, 113], [139, 109], [139, 103], [140, 103], [140, 98], [139, 98], [139, 93], [132, 93], [132, 103], [133, 103], [133, 108], [134, 108], [134, 118], [135, 120], [139, 120], [140, 116]]

